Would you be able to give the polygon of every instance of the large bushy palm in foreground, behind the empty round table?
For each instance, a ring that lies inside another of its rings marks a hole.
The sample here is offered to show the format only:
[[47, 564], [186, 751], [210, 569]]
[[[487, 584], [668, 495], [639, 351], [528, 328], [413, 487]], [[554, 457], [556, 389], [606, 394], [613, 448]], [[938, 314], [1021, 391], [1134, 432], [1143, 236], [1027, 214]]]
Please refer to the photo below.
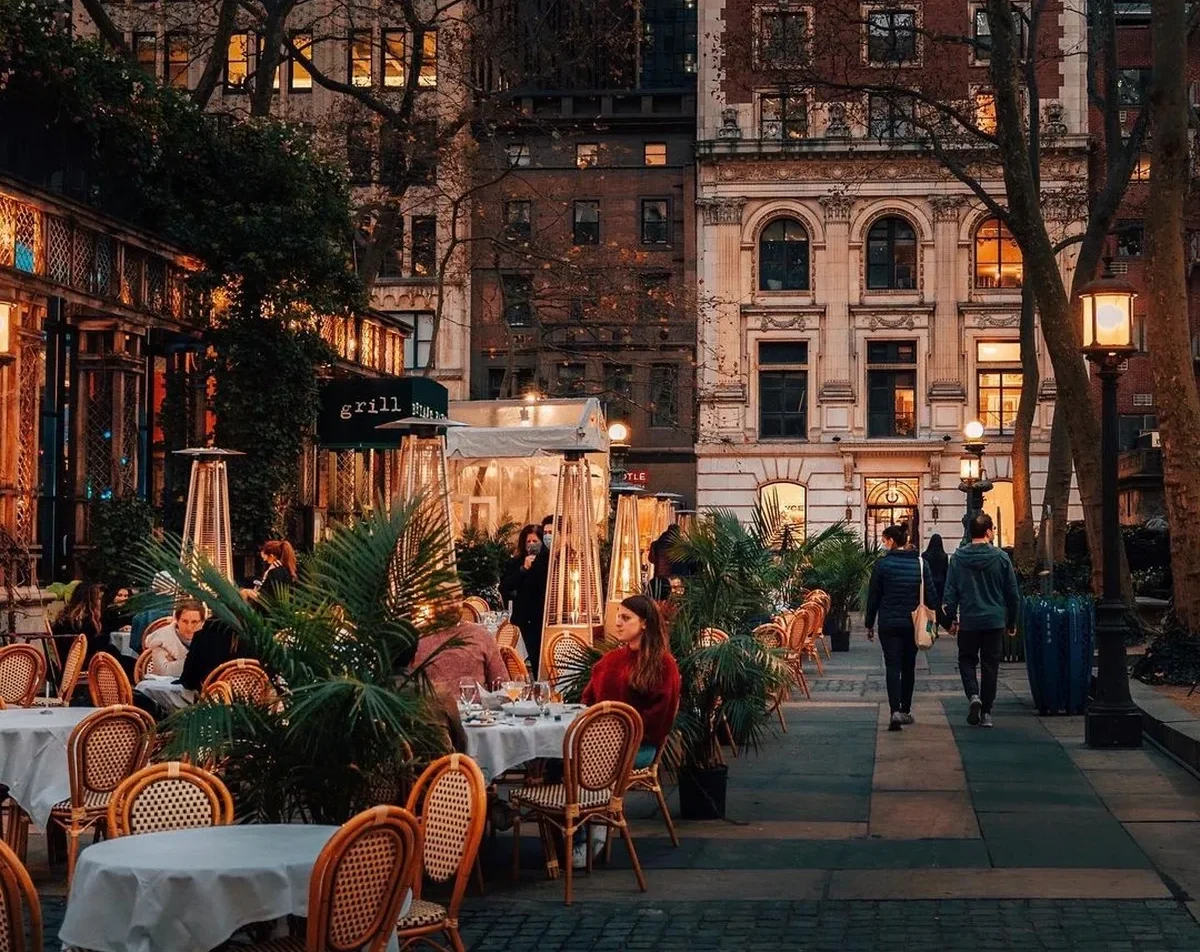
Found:
[[173, 714], [166, 755], [222, 762], [239, 814], [260, 822], [338, 824], [379, 802], [406, 746], [422, 759], [445, 743], [422, 671], [403, 666], [421, 634], [414, 617], [428, 617], [431, 630], [455, 621], [437, 611], [456, 585], [438, 558], [446, 533], [420, 499], [377, 507], [318, 545], [290, 589], [257, 605], [206, 561], [181, 565], [178, 540], [150, 543], [139, 575], [169, 573], [286, 685], [271, 707], [198, 703]]

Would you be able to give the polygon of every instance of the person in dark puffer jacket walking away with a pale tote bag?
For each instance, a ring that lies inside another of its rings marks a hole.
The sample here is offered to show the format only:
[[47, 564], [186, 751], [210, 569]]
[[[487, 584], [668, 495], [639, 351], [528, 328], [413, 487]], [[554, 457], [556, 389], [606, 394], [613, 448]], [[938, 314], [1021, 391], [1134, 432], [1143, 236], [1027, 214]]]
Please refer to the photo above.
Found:
[[875, 624], [880, 627], [880, 647], [887, 669], [888, 706], [892, 708], [889, 731], [912, 724], [912, 691], [917, 678], [917, 637], [912, 613], [920, 600], [922, 571], [925, 581], [925, 607], [936, 610], [937, 594], [932, 573], [916, 549], [908, 544], [904, 526], [883, 529], [887, 550], [871, 569], [866, 593], [866, 637], [875, 641]]

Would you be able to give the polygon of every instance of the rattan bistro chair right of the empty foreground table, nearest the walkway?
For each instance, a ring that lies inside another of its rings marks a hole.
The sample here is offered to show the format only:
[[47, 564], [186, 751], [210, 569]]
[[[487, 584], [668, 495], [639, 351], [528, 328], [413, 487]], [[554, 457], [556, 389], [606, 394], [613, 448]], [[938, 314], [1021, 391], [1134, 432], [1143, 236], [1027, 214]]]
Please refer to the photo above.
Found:
[[[433, 941], [445, 935], [452, 952], [464, 952], [458, 935], [458, 906], [467, 892], [472, 867], [484, 838], [487, 788], [475, 761], [450, 754], [433, 761], [408, 796], [408, 810], [421, 827], [421, 867], [414, 880], [413, 905], [396, 924], [401, 948], [446, 946]], [[439, 905], [421, 898], [425, 879], [451, 884], [450, 902]]]

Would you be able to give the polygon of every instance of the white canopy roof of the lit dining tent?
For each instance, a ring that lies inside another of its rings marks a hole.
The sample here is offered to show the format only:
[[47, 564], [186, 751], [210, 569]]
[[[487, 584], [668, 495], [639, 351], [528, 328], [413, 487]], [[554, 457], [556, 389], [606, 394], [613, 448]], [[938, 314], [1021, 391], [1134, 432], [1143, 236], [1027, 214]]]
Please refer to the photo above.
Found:
[[608, 451], [608, 427], [595, 397], [455, 401], [448, 415], [468, 424], [446, 433], [451, 459], [529, 459], [558, 456], [568, 449]]

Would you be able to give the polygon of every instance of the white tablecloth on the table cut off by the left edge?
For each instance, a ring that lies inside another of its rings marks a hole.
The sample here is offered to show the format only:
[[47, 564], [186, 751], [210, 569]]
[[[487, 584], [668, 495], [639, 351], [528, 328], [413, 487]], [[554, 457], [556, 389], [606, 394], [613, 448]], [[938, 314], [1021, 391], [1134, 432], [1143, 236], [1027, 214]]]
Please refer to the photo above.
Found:
[[67, 737], [92, 707], [11, 707], [0, 711], [0, 783], [42, 828], [50, 808], [71, 796]]

